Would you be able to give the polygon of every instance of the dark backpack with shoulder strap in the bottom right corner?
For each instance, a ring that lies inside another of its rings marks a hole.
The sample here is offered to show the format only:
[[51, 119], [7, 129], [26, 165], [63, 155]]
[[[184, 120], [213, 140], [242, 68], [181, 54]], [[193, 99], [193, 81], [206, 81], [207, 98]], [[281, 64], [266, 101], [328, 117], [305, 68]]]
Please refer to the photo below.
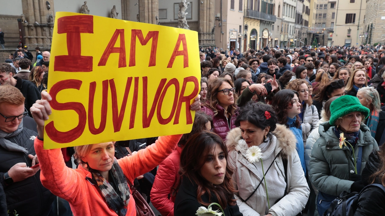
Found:
[[385, 187], [382, 184], [369, 184], [363, 188], [360, 193], [343, 191], [340, 197], [331, 202], [330, 208], [325, 211], [323, 216], [353, 216], [358, 207], [358, 199], [361, 193], [371, 186], [380, 188], [385, 193]]

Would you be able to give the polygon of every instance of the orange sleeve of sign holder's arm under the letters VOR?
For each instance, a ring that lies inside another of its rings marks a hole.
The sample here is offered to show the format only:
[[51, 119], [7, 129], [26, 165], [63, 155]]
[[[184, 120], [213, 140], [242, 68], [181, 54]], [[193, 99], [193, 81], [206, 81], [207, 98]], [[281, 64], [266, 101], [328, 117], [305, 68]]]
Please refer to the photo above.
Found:
[[155, 144], [138, 151], [135, 155], [118, 160], [123, 173], [132, 183], [134, 179], [158, 166], [175, 150], [182, 135], [159, 136]]

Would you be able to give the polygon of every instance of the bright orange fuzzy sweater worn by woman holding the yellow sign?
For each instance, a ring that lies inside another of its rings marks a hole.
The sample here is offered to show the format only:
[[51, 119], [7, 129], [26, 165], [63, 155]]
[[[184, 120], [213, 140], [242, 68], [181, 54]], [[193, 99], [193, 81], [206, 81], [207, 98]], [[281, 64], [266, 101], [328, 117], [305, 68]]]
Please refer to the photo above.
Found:
[[[182, 135], [161, 136], [154, 145], [137, 154], [118, 160], [124, 175], [133, 183], [137, 176], [147, 173], [159, 165], [172, 151]], [[89, 171], [79, 166], [65, 166], [62, 151], [44, 150], [43, 141], [35, 139], [35, 151], [40, 161], [40, 180], [45, 188], [70, 203], [74, 216], [117, 216], [99, 192], [85, 177], [92, 178]], [[126, 216], [136, 216], [134, 198], [130, 198]]]

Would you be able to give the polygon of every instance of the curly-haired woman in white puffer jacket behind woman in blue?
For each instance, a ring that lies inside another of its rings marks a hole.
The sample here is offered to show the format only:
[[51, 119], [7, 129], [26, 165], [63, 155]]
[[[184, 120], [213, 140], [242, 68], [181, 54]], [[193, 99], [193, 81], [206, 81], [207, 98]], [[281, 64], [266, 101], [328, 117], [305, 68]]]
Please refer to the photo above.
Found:
[[306, 146], [306, 139], [308, 138], [313, 128], [316, 127], [318, 120], [318, 111], [317, 108], [312, 105], [313, 100], [309, 95], [307, 82], [305, 80], [296, 79], [288, 83], [286, 89], [291, 89], [298, 92], [299, 98], [301, 100], [301, 113], [298, 114], [301, 121], [302, 137], [303, 137], [303, 146]]

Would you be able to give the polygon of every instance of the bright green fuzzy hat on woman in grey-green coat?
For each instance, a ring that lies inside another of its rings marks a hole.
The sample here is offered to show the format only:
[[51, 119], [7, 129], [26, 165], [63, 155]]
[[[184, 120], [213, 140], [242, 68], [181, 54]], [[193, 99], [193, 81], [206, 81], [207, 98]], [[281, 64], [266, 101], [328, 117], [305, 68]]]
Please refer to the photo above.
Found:
[[330, 125], [334, 125], [335, 121], [348, 113], [362, 112], [366, 118], [369, 117], [370, 110], [362, 106], [358, 98], [352, 95], [340, 96], [330, 104]]

